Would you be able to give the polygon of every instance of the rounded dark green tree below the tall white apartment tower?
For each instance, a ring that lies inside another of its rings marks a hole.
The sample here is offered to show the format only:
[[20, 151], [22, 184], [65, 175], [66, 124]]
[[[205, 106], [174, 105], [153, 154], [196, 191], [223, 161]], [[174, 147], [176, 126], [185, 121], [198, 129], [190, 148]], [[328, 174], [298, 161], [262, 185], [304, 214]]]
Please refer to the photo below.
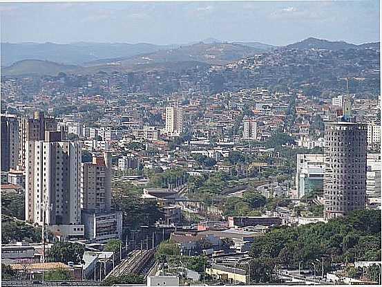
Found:
[[73, 261], [75, 264], [82, 263], [85, 248], [82, 244], [71, 242], [57, 242], [48, 252], [48, 258], [51, 262], [62, 262], [68, 264]]

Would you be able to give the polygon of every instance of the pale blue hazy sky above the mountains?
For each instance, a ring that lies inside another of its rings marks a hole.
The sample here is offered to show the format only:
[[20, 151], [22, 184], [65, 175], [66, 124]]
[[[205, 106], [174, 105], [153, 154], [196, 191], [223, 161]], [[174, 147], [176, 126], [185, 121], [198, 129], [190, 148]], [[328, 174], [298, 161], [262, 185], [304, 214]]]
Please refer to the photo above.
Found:
[[1, 41], [379, 41], [379, 0], [1, 3]]

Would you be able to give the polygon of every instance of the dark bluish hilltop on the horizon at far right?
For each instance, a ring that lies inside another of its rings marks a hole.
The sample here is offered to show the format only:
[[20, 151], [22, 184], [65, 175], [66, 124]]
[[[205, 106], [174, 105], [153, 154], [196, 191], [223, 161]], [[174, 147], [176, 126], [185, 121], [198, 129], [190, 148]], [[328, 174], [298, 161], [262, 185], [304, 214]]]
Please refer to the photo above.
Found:
[[345, 41], [328, 41], [325, 39], [317, 39], [314, 37], [309, 37], [303, 41], [298, 41], [294, 44], [289, 44], [285, 48], [294, 49], [326, 49], [326, 50], [343, 50], [343, 49], [358, 49], [358, 48], [370, 48], [379, 46], [379, 42], [376, 43], [365, 43], [361, 45], [350, 44]]

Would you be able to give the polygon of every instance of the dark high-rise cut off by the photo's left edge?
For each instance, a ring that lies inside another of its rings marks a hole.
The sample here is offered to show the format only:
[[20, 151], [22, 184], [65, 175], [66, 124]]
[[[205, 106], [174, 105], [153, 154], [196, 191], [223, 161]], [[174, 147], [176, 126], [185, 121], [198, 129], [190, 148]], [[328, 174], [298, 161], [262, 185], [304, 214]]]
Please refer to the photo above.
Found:
[[19, 160], [19, 122], [15, 115], [1, 115], [1, 171], [16, 169]]

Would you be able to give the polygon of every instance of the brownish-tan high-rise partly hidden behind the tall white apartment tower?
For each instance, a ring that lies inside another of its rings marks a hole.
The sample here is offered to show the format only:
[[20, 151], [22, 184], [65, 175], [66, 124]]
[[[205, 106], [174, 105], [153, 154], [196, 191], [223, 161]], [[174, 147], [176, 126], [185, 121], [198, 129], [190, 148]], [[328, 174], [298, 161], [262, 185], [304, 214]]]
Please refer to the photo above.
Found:
[[57, 120], [55, 118], [45, 118], [44, 112], [35, 111], [33, 118], [21, 118], [19, 166], [26, 167], [28, 141], [44, 140], [46, 131], [57, 131]]

